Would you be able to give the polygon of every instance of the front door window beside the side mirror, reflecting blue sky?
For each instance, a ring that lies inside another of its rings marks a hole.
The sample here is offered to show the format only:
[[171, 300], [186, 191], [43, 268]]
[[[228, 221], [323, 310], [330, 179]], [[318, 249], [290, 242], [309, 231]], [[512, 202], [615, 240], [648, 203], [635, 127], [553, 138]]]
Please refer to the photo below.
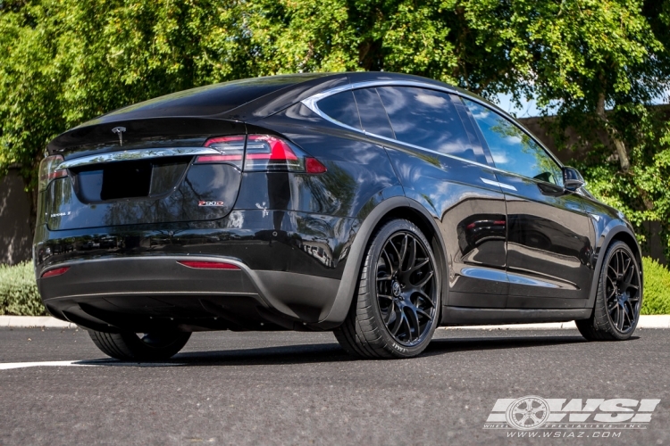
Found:
[[563, 186], [560, 166], [521, 128], [479, 103], [464, 102], [482, 130], [498, 169]]

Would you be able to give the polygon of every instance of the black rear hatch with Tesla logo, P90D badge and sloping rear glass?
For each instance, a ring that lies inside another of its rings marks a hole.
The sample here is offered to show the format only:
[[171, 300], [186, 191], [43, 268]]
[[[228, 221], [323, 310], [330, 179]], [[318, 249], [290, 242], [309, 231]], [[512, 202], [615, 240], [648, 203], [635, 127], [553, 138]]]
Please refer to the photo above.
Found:
[[[322, 76], [194, 88], [72, 128], [49, 143], [50, 156], [40, 164], [40, 221], [63, 230], [225, 217], [237, 199], [247, 133], [236, 111], [263, 108], [277, 95], [286, 102], [294, 97], [292, 86]], [[262, 152], [251, 155], [257, 167], [277, 161], [275, 142], [262, 137], [256, 143], [247, 151]]]

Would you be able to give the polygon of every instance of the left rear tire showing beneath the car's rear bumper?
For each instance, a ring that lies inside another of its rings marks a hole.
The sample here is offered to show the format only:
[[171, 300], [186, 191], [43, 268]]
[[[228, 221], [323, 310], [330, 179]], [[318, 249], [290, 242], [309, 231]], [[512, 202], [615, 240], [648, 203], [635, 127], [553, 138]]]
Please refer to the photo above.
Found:
[[135, 361], [169, 359], [176, 355], [191, 337], [190, 333], [163, 332], [137, 334], [131, 332], [102, 333], [88, 331], [97, 348], [112, 358]]

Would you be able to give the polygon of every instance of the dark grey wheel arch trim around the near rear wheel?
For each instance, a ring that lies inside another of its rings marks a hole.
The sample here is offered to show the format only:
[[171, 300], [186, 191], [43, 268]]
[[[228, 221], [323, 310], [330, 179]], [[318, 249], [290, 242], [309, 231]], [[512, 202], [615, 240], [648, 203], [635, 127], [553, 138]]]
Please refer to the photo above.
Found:
[[[448, 255], [445, 252], [445, 244], [440, 233], [440, 228], [435, 223], [435, 218], [419, 202], [407, 198], [406, 196], [390, 197], [380, 202], [364, 219], [354, 243], [349, 251], [347, 265], [342, 274], [342, 281], [339, 284], [338, 293], [333, 301], [328, 315], [319, 321], [322, 329], [331, 329], [339, 326], [347, 317], [351, 301], [354, 297], [356, 285], [358, 283], [358, 272], [363, 262], [366, 248], [370, 243], [370, 238], [374, 231], [381, 227], [390, 219], [406, 219], [414, 223], [423, 232], [435, 254], [435, 260], [438, 262], [437, 268], [440, 268], [440, 293], [446, 296], [445, 290], [448, 290]], [[345, 280], [345, 277], [355, 277], [355, 280]], [[441, 310], [441, 309], [440, 309]]]

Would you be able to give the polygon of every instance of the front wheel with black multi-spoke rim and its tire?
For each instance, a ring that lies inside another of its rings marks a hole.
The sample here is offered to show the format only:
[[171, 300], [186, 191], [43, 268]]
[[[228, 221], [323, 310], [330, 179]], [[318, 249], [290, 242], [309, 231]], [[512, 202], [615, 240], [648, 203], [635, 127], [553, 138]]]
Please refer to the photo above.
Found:
[[589, 341], [624, 341], [635, 331], [641, 307], [640, 265], [631, 248], [617, 241], [602, 262], [591, 317], [574, 322]]

